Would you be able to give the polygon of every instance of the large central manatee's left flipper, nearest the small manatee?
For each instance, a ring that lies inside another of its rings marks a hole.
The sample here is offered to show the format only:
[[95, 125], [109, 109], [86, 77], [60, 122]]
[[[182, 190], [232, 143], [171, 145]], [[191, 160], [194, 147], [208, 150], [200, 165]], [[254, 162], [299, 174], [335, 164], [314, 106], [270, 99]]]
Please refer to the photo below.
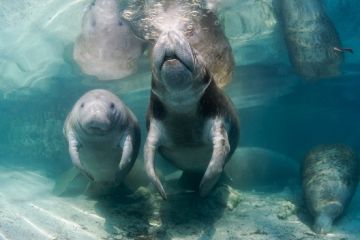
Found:
[[161, 130], [156, 121], [150, 122], [148, 136], [144, 146], [144, 163], [145, 171], [150, 178], [150, 181], [155, 185], [163, 199], [167, 199], [164, 187], [162, 186], [159, 177], [156, 175], [154, 161], [155, 152], [161, 140]]

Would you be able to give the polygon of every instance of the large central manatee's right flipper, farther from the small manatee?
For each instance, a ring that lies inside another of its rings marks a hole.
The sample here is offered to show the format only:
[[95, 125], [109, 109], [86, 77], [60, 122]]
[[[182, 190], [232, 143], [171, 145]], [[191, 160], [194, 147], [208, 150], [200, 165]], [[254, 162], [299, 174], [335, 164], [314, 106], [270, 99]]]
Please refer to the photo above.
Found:
[[230, 144], [224, 122], [216, 118], [210, 122], [210, 128], [208, 140], [213, 144], [213, 153], [199, 187], [200, 196], [202, 197], [208, 195], [219, 180], [230, 152]]

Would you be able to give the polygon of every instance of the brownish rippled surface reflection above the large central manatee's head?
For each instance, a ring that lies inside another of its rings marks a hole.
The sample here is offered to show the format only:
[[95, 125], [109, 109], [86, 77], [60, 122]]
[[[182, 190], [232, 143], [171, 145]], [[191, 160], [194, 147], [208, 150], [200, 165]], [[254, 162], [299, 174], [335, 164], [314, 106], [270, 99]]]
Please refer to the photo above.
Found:
[[214, 12], [192, 0], [132, 0], [123, 13], [135, 34], [153, 42], [167, 31], [181, 32], [219, 86], [231, 81], [235, 65], [230, 43]]

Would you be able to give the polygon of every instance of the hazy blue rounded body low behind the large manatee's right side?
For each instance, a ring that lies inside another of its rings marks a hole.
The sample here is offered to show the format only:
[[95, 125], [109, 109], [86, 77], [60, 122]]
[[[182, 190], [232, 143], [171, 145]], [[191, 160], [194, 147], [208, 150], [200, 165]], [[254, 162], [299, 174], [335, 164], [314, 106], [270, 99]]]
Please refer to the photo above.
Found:
[[297, 178], [299, 166], [293, 159], [268, 149], [240, 147], [235, 150], [224, 171], [236, 188], [283, 188]]

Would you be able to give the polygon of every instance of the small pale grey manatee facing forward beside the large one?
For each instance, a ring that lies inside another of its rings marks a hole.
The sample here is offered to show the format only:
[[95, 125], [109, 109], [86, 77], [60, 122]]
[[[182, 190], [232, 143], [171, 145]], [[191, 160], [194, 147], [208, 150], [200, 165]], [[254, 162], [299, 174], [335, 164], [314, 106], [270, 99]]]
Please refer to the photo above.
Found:
[[140, 147], [134, 114], [114, 94], [96, 89], [74, 105], [64, 124], [72, 162], [96, 183], [119, 184]]

